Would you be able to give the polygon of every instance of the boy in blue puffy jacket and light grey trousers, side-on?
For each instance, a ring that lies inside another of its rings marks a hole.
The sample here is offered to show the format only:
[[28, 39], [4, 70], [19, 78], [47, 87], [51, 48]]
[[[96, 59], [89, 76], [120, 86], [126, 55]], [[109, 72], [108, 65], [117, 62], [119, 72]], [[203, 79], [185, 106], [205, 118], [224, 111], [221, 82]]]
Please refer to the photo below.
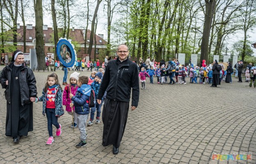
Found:
[[86, 129], [85, 124], [90, 113], [89, 107], [89, 97], [91, 94], [91, 86], [88, 85], [89, 78], [87, 76], [81, 76], [78, 78], [78, 90], [75, 93], [75, 96], [70, 93], [69, 98], [71, 98], [72, 102], [70, 103], [70, 107], [75, 106], [75, 113], [77, 114], [77, 124], [78, 129], [81, 134], [81, 141], [75, 147], [82, 148], [86, 146]]

